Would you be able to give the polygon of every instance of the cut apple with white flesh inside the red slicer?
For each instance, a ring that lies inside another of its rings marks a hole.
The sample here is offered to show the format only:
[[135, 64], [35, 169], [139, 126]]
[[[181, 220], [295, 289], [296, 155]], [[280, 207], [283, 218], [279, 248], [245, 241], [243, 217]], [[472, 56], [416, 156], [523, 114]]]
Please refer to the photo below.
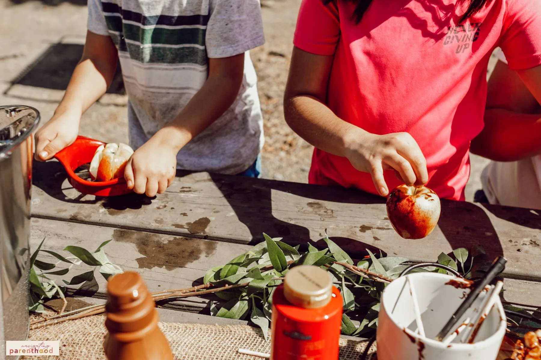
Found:
[[95, 181], [121, 178], [133, 149], [126, 144], [111, 142], [97, 148], [90, 162], [90, 175]]

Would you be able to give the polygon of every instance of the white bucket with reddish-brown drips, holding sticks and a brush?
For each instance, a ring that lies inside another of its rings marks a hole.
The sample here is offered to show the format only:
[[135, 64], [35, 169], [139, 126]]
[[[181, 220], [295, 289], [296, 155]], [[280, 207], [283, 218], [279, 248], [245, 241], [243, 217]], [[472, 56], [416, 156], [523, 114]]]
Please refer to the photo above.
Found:
[[[417, 295], [424, 337], [418, 334], [407, 278], [413, 283], [414, 293]], [[507, 325], [499, 297], [481, 324], [474, 343], [467, 343], [467, 339], [460, 343], [465, 335], [471, 333], [468, 328], [449, 344], [434, 339], [470, 291], [461, 288], [457, 282], [464, 283], [450, 275], [414, 273], [399, 277], [388, 284], [381, 296], [376, 335], [378, 360], [495, 360]], [[487, 291], [483, 291], [451, 332], [467, 317], [470, 317], [472, 322], [475, 321], [475, 311], [480, 311], [486, 298]]]

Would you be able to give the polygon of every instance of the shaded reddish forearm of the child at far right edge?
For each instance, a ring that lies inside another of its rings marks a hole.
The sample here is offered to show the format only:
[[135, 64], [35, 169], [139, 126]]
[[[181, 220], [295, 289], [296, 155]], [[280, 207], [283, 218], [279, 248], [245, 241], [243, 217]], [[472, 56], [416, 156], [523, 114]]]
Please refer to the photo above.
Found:
[[471, 152], [496, 161], [516, 161], [541, 154], [541, 116], [500, 108], [487, 109], [485, 127], [471, 142]]

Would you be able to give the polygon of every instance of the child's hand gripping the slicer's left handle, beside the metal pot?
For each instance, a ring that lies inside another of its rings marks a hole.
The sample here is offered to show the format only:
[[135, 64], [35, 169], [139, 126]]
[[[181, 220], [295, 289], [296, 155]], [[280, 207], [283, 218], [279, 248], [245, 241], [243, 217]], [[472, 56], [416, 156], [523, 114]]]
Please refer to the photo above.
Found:
[[36, 132], [36, 160], [49, 160], [64, 147], [73, 144], [79, 133], [80, 121], [80, 113], [55, 114]]

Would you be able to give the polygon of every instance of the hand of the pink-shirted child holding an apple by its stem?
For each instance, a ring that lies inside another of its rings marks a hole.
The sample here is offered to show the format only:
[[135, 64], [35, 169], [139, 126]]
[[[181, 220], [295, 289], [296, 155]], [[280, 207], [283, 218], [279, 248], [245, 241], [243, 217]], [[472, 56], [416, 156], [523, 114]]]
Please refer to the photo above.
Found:
[[347, 159], [359, 171], [368, 172], [382, 196], [389, 193], [383, 171], [394, 169], [406, 185], [428, 182], [426, 159], [413, 137], [405, 132], [386, 135], [362, 133], [352, 138]]

